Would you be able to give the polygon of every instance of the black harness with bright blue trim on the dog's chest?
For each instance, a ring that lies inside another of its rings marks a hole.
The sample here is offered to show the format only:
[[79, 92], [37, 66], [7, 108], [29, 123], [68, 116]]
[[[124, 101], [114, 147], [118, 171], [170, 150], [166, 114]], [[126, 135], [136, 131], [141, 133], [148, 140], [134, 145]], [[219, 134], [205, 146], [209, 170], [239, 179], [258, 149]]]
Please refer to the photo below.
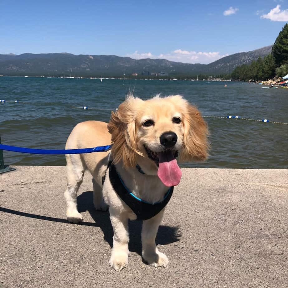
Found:
[[[148, 203], [136, 197], [127, 189], [120, 175], [118, 175], [115, 166], [112, 164], [112, 161], [109, 162], [107, 169], [108, 168], [109, 179], [113, 186], [113, 189], [123, 200], [123, 202], [125, 202], [125, 204], [136, 214], [137, 220], [147, 220], [156, 216], [167, 205], [173, 194], [174, 186], [169, 188], [161, 202], [156, 202], [154, 204]], [[142, 174], [144, 174], [144, 172]], [[102, 184], [104, 183], [104, 181], [105, 176], [103, 176], [102, 178]]]

